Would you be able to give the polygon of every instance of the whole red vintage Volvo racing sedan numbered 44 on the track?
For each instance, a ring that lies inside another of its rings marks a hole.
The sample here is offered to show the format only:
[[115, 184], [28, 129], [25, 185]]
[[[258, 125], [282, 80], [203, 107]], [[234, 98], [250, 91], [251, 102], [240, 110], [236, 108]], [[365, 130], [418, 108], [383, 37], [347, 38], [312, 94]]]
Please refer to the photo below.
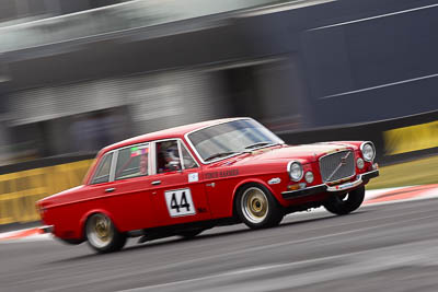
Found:
[[83, 185], [37, 202], [51, 233], [100, 253], [192, 237], [217, 225], [279, 224], [324, 206], [347, 214], [379, 175], [371, 142], [287, 145], [251, 118], [205, 121], [139, 136], [101, 150]]

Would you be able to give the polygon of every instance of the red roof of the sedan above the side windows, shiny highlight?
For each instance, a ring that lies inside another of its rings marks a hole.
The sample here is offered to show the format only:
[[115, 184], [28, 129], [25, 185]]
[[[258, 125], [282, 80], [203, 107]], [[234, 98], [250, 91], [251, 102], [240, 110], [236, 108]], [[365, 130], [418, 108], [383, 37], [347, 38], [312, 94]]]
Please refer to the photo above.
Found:
[[131, 144], [138, 144], [138, 143], [142, 143], [142, 142], [162, 140], [162, 139], [168, 139], [168, 138], [183, 138], [184, 135], [186, 135], [191, 131], [207, 128], [207, 127], [215, 126], [215, 125], [222, 124], [222, 122], [238, 120], [238, 119], [245, 119], [245, 118], [222, 118], [222, 119], [206, 120], [206, 121], [188, 124], [188, 125], [184, 125], [184, 126], [180, 126], [180, 127], [169, 128], [169, 129], [161, 130], [161, 131], [140, 135], [140, 136], [132, 137], [132, 138], [123, 140], [120, 142], [105, 147], [104, 149], [102, 149], [100, 151], [99, 156], [101, 156], [104, 153], [112, 151], [114, 149], [118, 149], [118, 148], [123, 148], [123, 147], [127, 147], [127, 145], [131, 145]]

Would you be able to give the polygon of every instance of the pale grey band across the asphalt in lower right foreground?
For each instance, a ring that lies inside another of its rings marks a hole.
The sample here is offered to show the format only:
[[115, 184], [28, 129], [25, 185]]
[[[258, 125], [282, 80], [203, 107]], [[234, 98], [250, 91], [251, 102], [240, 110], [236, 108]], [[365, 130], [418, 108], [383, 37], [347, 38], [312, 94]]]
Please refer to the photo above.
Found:
[[[402, 244], [395, 247], [385, 246], [374, 249], [353, 252], [335, 256], [325, 256], [325, 257], [319, 257], [308, 260], [299, 260], [293, 262], [250, 267], [246, 269], [233, 270], [230, 272], [216, 273], [194, 279], [122, 290], [119, 292], [138, 292], [138, 291], [155, 290], [155, 289], [168, 289], [165, 291], [198, 291], [199, 289], [206, 289], [209, 287], [214, 287], [214, 289], [210, 291], [266, 291], [266, 290], [270, 291], [281, 288], [290, 289], [292, 287], [315, 284], [323, 281], [347, 278], [373, 271], [381, 271], [403, 266], [412, 266], [413, 264], [423, 266], [434, 265], [435, 264], [434, 258], [438, 257], [437, 240], [425, 241], [419, 245], [424, 246], [425, 248], [424, 249], [415, 248], [418, 247], [418, 243]], [[404, 255], [404, 250], [406, 249], [413, 249], [414, 252], [412, 252], [410, 255]], [[400, 257], [401, 254], [403, 255], [403, 257]], [[275, 276], [275, 270], [304, 268], [307, 266], [311, 265], [314, 266], [318, 264], [324, 264], [333, 260], [339, 261], [342, 259], [350, 257], [353, 257], [353, 260], [344, 260], [345, 264], [341, 266], [327, 267], [321, 270], [309, 271], [303, 273], [291, 272], [289, 276], [286, 277]], [[265, 271], [267, 270], [273, 270], [272, 279], [257, 280], [257, 277], [262, 276], [263, 273], [266, 273]], [[242, 277], [240, 276], [245, 273], [251, 273], [251, 276], [255, 278], [255, 282], [254, 280], [250, 282], [235, 281], [239, 279], [242, 280], [241, 279]], [[224, 281], [220, 280], [219, 278], [227, 278], [226, 282], [234, 282], [234, 283], [223, 285]], [[199, 284], [193, 285], [196, 282], [206, 280], [214, 280], [214, 281], [210, 283], [205, 283], [206, 284], [205, 287], [199, 287]]]

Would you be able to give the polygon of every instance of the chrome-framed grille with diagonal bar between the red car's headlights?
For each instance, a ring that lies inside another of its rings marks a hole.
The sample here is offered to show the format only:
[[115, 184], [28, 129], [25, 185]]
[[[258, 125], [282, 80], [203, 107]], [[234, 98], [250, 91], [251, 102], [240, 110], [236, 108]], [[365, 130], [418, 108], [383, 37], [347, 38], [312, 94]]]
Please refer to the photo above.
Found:
[[322, 156], [320, 171], [324, 183], [349, 177], [355, 174], [355, 154], [353, 151], [341, 151]]

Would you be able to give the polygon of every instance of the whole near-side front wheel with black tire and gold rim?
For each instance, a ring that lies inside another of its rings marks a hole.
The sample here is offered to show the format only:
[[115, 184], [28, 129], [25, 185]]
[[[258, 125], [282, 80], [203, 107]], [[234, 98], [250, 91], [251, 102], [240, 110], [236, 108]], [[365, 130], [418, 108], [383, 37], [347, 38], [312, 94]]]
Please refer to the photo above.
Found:
[[235, 211], [246, 226], [257, 230], [278, 225], [285, 211], [263, 185], [249, 184], [235, 198]]

